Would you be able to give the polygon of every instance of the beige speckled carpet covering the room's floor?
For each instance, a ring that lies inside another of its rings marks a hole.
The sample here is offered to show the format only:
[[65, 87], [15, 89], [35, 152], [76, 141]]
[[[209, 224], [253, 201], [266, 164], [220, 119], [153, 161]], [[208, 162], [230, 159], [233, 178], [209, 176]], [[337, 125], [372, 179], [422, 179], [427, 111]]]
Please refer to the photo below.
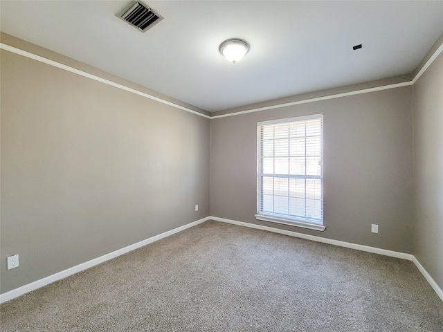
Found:
[[208, 221], [0, 306], [1, 331], [443, 331], [411, 261]]

